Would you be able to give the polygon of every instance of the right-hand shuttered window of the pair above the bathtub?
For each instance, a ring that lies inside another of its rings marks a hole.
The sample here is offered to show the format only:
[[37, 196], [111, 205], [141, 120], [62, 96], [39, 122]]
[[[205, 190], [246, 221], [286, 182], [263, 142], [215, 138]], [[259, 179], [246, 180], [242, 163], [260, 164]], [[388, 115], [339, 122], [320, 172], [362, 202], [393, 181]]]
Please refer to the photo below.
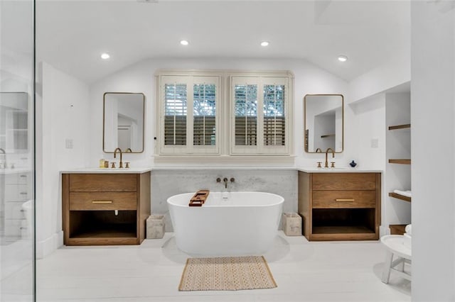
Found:
[[232, 155], [289, 154], [289, 77], [231, 78]]

